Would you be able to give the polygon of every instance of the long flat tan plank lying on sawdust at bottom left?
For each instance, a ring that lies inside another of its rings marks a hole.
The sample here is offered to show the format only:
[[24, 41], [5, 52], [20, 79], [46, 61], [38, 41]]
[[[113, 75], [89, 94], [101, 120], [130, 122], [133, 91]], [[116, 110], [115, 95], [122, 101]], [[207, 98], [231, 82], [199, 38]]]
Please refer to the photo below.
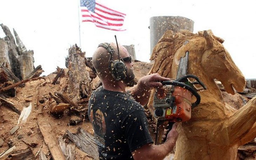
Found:
[[41, 122], [38, 121], [37, 124], [42, 133], [43, 140], [45, 141], [45, 144], [48, 146], [50, 150], [52, 158], [54, 160], [66, 160], [65, 156], [61, 151], [59, 143], [56, 137], [54, 136], [54, 132], [50, 124], [42, 121]]

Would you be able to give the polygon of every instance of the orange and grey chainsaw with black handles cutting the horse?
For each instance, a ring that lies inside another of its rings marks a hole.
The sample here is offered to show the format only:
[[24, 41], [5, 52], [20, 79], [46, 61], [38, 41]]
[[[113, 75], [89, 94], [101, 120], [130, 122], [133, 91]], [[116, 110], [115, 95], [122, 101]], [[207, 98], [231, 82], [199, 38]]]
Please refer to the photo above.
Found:
[[[155, 144], [162, 144], [164, 125], [168, 123], [169, 132], [175, 122], [186, 122], [191, 118], [191, 109], [196, 107], [201, 97], [197, 93], [206, 86], [195, 75], [187, 74], [189, 51], [181, 58], [176, 80], [162, 81], [166, 96], [163, 99], [154, 95], [154, 116], [157, 118]], [[196, 101], [192, 103], [192, 96]], [[165, 140], [164, 140], [165, 141]]]

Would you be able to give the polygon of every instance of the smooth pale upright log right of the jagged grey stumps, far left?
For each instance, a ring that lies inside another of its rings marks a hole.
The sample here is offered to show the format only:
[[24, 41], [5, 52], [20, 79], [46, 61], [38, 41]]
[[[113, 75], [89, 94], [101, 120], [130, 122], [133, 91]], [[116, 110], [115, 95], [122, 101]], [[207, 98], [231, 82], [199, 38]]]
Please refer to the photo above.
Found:
[[26, 52], [23, 52], [18, 57], [18, 62], [20, 66], [20, 73], [22, 79], [25, 79], [31, 72], [34, 71], [34, 51], [29, 50]]

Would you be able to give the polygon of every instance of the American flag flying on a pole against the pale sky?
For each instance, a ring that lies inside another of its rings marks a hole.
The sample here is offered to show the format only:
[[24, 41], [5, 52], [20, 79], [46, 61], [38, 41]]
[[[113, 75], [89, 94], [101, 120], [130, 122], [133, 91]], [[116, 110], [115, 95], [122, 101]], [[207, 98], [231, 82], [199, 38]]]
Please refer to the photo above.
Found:
[[122, 29], [126, 14], [101, 5], [95, 0], [80, 0], [82, 22], [94, 22], [96, 27], [115, 31]]

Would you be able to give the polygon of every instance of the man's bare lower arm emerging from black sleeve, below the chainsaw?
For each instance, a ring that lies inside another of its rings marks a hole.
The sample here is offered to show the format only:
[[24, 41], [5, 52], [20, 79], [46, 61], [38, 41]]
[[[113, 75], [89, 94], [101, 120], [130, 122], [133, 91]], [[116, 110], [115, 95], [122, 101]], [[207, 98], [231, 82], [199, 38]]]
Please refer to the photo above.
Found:
[[173, 125], [173, 128], [167, 135], [167, 140], [161, 145], [144, 145], [134, 152], [132, 152], [134, 160], [147, 159], [147, 160], [162, 160], [166, 157], [173, 147], [175, 146], [178, 132], [176, 131], [177, 123]]

